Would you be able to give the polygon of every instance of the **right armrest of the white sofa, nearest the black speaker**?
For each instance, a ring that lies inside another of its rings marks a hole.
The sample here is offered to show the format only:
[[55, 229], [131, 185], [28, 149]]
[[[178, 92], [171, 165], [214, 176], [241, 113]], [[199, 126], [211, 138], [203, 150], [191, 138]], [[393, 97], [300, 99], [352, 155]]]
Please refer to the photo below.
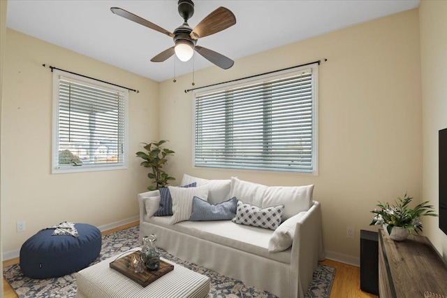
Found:
[[[321, 205], [312, 202], [312, 207], [298, 220], [293, 237], [291, 254], [291, 292], [298, 292], [298, 297], [304, 297], [312, 275], [318, 267], [318, 260], [324, 260], [323, 240], [321, 232]], [[295, 279], [294, 279], [295, 278]]]

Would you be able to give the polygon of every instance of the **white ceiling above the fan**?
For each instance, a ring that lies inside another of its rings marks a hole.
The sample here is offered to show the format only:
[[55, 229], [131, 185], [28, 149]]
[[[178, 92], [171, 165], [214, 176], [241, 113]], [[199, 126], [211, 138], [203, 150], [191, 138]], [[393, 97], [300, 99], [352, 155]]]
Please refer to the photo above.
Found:
[[[233, 27], [201, 38], [198, 45], [236, 60], [416, 8], [419, 0], [196, 0], [194, 4], [195, 12], [189, 19], [192, 28], [219, 6], [235, 14], [237, 23]], [[172, 38], [114, 15], [110, 11], [112, 6], [129, 10], [171, 32], [183, 22], [177, 12], [177, 0], [8, 0], [7, 25], [152, 80], [173, 78], [175, 56], [165, 62], [149, 61], [170, 48]], [[200, 55], [194, 55], [189, 62], [176, 60], [176, 75], [190, 73], [193, 63], [196, 70], [217, 68]]]

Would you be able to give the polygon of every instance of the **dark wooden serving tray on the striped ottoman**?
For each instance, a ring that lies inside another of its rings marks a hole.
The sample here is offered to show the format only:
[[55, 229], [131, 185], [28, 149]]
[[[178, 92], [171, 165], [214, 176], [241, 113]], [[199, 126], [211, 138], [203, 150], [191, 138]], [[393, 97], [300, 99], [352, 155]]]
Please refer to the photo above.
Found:
[[137, 251], [135, 253], [131, 253], [130, 255], [120, 257], [113, 262], [110, 262], [110, 268], [115, 269], [124, 276], [131, 278], [132, 281], [136, 281], [143, 287], [149, 285], [149, 283], [156, 281], [157, 279], [161, 278], [161, 276], [174, 270], [174, 265], [160, 260], [160, 267], [158, 270], [151, 271], [145, 268], [145, 271], [143, 271], [142, 273], [135, 273], [133, 268], [129, 266], [129, 264], [131, 264], [131, 258], [135, 254], [140, 255], [140, 252]]

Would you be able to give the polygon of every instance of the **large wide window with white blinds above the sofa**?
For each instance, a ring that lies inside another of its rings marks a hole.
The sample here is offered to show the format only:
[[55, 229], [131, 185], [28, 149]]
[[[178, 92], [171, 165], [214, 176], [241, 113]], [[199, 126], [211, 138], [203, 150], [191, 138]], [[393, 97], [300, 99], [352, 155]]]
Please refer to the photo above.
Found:
[[196, 93], [194, 165], [316, 174], [313, 65]]

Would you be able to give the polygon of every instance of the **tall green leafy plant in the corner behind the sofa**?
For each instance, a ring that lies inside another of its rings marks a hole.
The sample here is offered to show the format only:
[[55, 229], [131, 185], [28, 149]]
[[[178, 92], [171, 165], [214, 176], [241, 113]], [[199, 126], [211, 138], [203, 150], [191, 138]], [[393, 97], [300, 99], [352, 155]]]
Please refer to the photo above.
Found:
[[158, 190], [160, 187], [166, 187], [169, 180], [175, 180], [174, 177], [170, 177], [163, 171], [163, 165], [168, 162], [166, 157], [175, 153], [168, 148], [162, 148], [162, 145], [166, 142], [166, 140], [161, 140], [158, 142], [152, 141], [152, 143], [142, 143], [145, 144], [144, 148], [147, 150], [147, 153], [142, 151], [136, 152], [137, 157], [145, 159], [140, 165], [152, 169], [152, 173], [148, 173], [147, 177], [152, 179], [152, 183], [155, 183], [156, 186], [149, 185], [147, 187], [148, 190]]

